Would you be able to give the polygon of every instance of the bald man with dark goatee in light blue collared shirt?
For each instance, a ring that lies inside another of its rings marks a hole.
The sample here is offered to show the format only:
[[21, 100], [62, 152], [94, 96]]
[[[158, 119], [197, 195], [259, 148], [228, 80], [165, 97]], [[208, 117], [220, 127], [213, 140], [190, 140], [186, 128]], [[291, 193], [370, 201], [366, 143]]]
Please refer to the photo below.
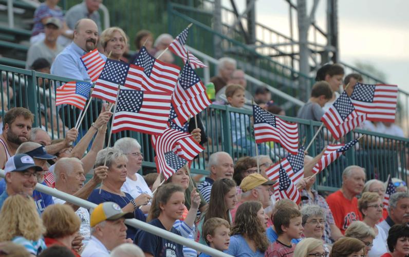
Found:
[[[94, 21], [79, 20], [75, 25], [72, 43], [55, 58], [51, 66], [51, 74], [90, 82], [91, 79], [80, 57], [97, 47], [98, 36], [98, 26]], [[103, 54], [100, 53], [100, 55], [106, 60]]]

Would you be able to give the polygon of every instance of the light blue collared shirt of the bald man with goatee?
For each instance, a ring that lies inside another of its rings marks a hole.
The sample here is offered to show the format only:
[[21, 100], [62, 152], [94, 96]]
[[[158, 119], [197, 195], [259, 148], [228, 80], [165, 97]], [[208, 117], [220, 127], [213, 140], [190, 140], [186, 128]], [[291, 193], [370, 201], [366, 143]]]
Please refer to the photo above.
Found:
[[[51, 74], [91, 82], [84, 63], [80, 59], [85, 53], [86, 51], [72, 42], [55, 58], [51, 65]], [[106, 60], [104, 54], [100, 53], [100, 56], [104, 61]]]

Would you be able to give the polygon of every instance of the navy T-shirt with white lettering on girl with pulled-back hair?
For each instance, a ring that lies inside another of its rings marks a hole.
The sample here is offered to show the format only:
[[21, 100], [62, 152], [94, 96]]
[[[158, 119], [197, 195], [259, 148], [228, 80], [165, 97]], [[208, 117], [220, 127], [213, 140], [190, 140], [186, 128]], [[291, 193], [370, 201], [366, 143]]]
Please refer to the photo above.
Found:
[[[149, 224], [166, 230], [158, 218], [153, 219]], [[174, 227], [171, 228], [171, 232], [180, 235]], [[155, 257], [183, 256], [182, 245], [144, 230], [138, 230], [134, 244], [138, 245], [143, 252], [150, 253]]]

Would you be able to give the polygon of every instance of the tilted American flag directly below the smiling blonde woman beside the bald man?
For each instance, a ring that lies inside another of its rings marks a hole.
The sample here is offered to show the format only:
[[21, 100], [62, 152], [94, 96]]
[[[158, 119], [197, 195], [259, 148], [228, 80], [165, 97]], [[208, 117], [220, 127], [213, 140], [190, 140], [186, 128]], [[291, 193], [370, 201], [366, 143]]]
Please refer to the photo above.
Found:
[[104, 69], [92, 90], [91, 97], [100, 98], [115, 103], [118, 94], [118, 85], [125, 83], [129, 64], [107, 59]]

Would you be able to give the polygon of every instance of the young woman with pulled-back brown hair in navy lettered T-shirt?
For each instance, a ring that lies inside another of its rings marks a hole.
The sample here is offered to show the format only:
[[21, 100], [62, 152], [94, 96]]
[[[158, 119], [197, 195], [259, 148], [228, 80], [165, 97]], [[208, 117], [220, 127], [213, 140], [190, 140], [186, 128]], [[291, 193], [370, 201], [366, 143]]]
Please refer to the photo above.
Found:
[[[184, 190], [180, 186], [167, 184], [158, 187], [152, 200], [147, 222], [155, 227], [181, 235], [173, 225], [177, 219], [182, 218], [183, 203]], [[183, 256], [182, 245], [144, 230], [138, 230], [134, 243], [142, 249], [146, 257]]]

